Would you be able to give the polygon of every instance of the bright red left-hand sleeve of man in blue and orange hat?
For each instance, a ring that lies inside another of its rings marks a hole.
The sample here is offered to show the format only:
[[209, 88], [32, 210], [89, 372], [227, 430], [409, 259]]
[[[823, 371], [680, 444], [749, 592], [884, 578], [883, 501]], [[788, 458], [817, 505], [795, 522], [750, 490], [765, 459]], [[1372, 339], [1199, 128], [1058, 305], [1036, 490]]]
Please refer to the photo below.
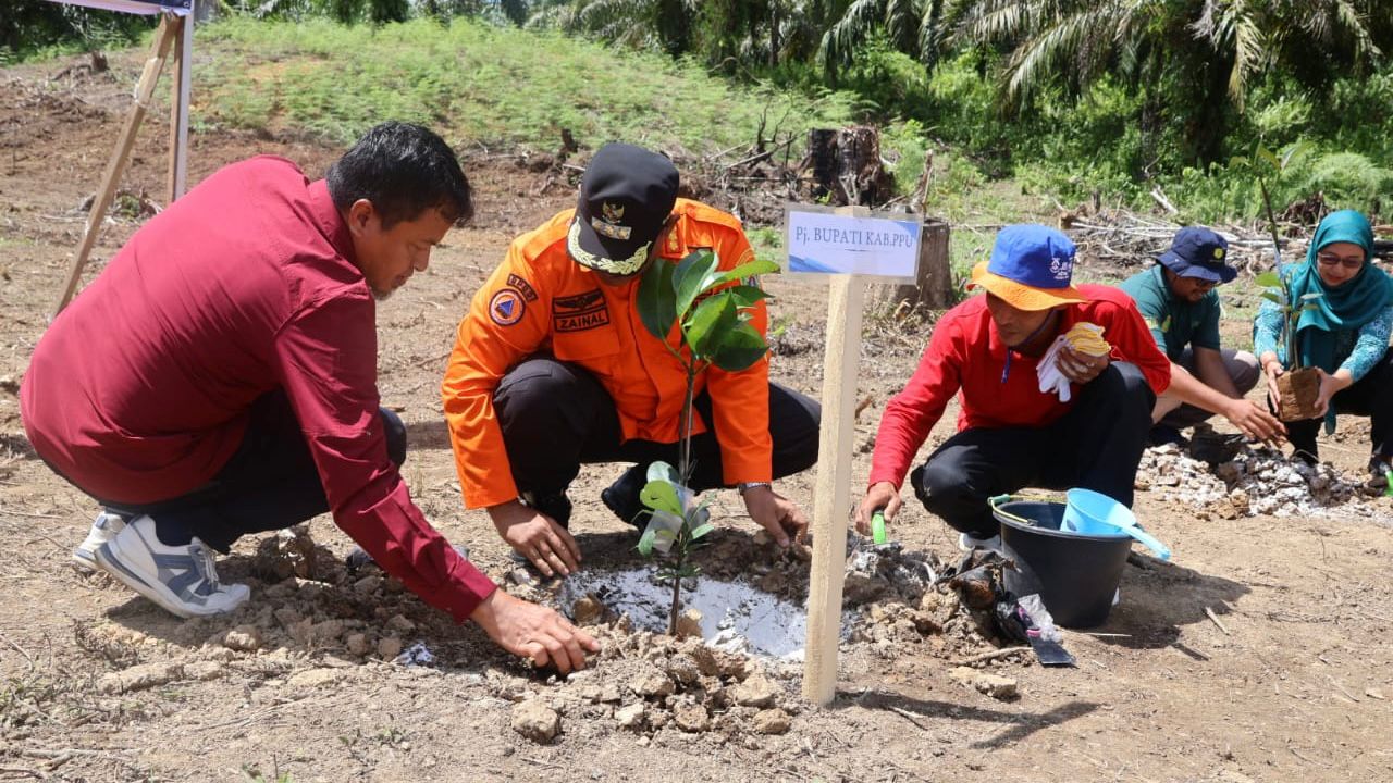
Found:
[[933, 329], [929, 347], [919, 359], [918, 369], [900, 392], [890, 398], [880, 417], [871, 456], [868, 485], [889, 481], [896, 488], [904, 483], [904, 474], [929, 431], [943, 417], [949, 400], [963, 385], [963, 340], [957, 319], [944, 316]]

